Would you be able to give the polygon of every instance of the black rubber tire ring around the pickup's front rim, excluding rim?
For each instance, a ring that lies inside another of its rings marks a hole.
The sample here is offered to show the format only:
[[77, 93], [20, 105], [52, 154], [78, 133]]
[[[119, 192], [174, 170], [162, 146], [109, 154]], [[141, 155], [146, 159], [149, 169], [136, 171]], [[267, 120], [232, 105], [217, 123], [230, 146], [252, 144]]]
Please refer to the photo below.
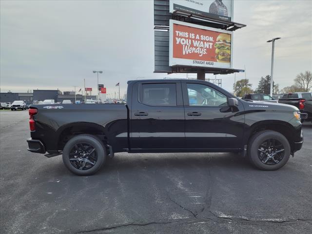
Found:
[[[282, 160], [275, 164], [275, 165], [267, 165], [261, 162], [260, 158], [258, 157], [258, 148], [262, 142], [264, 142], [267, 139], [276, 139], [284, 146], [284, 156]], [[256, 166], [257, 168], [261, 170], [266, 171], [274, 171], [277, 169], [280, 169], [283, 167], [287, 162], [291, 154], [291, 147], [286, 137], [284, 137], [282, 134], [274, 131], [263, 131], [258, 134], [256, 134], [254, 137], [252, 137], [250, 145], [248, 147], [248, 155], [251, 160], [251, 162]]]

